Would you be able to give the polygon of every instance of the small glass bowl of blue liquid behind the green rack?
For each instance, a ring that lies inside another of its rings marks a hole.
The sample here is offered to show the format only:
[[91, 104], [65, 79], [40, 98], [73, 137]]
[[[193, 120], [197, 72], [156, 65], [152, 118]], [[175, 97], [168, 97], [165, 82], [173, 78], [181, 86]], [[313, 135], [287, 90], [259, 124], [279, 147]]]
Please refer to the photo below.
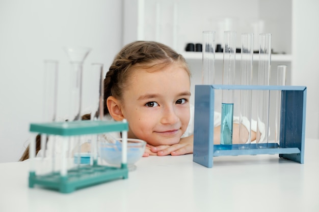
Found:
[[[134, 165], [143, 157], [146, 142], [140, 139], [127, 139], [127, 168], [129, 171], [135, 170]], [[102, 162], [107, 165], [120, 167], [122, 163], [122, 139], [118, 138], [115, 142], [100, 142], [99, 155]]]

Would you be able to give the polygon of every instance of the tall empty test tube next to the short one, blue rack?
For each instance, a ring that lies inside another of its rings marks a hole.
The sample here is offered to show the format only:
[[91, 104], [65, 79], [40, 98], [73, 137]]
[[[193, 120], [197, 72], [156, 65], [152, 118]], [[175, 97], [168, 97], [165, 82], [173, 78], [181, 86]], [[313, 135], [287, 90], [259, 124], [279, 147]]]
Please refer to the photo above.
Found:
[[[271, 68], [271, 34], [259, 34], [258, 85], [269, 85]], [[259, 148], [268, 143], [269, 138], [269, 93], [258, 90], [256, 143]]]

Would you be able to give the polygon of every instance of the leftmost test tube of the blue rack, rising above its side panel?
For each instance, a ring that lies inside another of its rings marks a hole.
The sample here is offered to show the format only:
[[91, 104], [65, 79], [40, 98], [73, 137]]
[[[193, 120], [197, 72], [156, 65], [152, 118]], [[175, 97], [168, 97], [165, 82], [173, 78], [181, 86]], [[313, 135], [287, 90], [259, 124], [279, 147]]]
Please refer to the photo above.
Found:
[[215, 83], [215, 32], [203, 32], [202, 84]]

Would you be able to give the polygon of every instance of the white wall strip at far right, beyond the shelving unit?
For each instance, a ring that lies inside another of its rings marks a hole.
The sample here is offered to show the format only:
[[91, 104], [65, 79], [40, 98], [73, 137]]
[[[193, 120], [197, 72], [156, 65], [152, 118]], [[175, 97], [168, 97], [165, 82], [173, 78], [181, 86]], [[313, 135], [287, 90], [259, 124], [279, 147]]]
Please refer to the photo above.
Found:
[[319, 138], [319, 1], [293, 1], [291, 84], [307, 86], [306, 137]]

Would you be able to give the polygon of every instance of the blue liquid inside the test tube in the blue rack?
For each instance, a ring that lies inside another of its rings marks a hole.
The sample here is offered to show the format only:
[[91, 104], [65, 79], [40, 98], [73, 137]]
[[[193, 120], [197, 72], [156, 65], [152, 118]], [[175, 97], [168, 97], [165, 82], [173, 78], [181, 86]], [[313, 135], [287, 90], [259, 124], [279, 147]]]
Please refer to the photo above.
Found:
[[232, 145], [234, 104], [222, 103], [221, 144]]

